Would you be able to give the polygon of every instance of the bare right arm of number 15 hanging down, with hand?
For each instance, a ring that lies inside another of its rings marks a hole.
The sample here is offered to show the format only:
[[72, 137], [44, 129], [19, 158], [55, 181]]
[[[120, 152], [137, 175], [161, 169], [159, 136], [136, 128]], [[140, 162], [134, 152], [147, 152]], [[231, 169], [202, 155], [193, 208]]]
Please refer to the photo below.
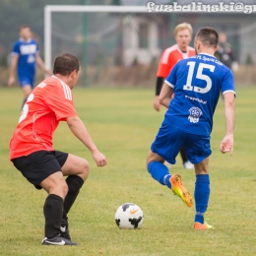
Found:
[[233, 152], [233, 133], [234, 133], [234, 93], [228, 92], [224, 94], [224, 118], [225, 118], [225, 136], [221, 143], [221, 152]]

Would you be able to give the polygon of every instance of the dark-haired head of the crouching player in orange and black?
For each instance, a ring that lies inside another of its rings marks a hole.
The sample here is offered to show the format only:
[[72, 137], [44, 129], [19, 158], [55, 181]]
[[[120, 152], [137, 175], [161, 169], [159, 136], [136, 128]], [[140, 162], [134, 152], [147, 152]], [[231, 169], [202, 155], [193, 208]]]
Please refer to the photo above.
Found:
[[65, 53], [54, 61], [53, 74], [66, 77], [67, 85], [73, 89], [79, 79], [80, 62], [77, 57]]

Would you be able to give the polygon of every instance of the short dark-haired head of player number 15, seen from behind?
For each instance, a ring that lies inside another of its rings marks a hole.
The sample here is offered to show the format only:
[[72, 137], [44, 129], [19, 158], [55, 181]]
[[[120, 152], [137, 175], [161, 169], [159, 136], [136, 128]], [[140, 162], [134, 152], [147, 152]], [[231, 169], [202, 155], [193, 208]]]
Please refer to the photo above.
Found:
[[213, 54], [218, 50], [219, 35], [215, 29], [206, 27], [195, 36], [194, 46], [196, 54], [207, 51], [206, 53]]

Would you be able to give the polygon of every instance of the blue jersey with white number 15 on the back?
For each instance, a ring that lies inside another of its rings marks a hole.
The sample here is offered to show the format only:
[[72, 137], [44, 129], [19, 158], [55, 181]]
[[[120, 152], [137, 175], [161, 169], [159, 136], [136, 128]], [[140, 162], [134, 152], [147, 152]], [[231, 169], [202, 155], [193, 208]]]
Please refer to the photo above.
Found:
[[165, 83], [174, 91], [165, 120], [192, 134], [211, 134], [220, 92], [233, 92], [235, 96], [230, 69], [206, 53], [180, 60]]

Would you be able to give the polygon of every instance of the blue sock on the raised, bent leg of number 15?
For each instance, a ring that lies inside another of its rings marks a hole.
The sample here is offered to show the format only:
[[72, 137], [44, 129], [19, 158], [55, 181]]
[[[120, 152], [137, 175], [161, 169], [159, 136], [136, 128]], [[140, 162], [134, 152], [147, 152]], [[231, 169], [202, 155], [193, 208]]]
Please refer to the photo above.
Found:
[[169, 178], [168, 168], [161, 163], [160, 161], [154, 160], [148, 164], [148, 171], [151, 173], [152, 177], [160, 182], [161, 185], [166, 185], [168, 188], [171, 188]]

